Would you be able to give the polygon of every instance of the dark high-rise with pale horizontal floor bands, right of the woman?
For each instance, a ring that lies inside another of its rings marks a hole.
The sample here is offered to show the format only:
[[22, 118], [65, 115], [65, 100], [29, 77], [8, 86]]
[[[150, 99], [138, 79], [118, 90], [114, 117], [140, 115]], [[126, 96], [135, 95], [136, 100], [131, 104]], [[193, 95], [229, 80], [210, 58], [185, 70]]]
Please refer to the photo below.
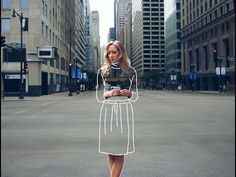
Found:
[[132, 63], [139, 75], [165, 69], [164, 0], [132, 0]]

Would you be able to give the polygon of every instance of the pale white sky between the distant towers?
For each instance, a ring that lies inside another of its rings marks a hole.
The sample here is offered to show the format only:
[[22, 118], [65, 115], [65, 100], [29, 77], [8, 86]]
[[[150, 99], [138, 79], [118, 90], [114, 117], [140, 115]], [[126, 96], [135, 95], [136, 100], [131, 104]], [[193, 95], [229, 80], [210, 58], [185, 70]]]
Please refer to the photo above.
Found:
[[107, 43], [109, 28], [114, 27], [114, 0], [89, 0], [90, 10], [99, 13], [100, 45]]

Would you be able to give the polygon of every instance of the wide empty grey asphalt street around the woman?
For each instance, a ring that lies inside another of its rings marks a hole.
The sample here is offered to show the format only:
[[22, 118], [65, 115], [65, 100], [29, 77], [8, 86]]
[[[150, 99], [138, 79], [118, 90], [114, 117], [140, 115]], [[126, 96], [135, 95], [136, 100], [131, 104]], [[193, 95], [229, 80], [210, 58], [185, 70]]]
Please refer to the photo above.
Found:
[[[1, 100], [1, 177], [109, 177], [95, 92]], [[121, 177], [234, 177], [235, 96], [139, 92]]]

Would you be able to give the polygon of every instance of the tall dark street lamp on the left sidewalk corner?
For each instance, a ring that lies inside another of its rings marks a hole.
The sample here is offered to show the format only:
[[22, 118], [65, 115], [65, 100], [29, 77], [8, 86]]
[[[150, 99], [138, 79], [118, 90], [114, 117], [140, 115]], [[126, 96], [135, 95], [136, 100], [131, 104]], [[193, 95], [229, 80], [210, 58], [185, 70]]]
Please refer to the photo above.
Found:
[[22, 66], [23, 66], [23, 12], [20, 9], [13, 9], [12, 12], [12, 17], [15, 18], [16, 16], [19, 17], [20, 19], [20, 95], [19, 95], [19, 99], [24, 99], [24, 95], [23, 95], [23, 73], [22, 73]]

